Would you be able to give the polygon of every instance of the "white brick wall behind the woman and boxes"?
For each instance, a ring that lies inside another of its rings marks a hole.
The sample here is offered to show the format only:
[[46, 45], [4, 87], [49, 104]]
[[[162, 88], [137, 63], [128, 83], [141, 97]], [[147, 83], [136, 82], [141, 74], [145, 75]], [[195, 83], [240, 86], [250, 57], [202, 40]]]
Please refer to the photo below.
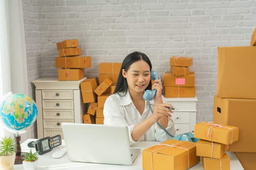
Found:
[[[101, 62], [148, 55], [163, 80], [172, 55], [193, 57], [197, 122], [212, 121], [217, 47], [249, 46], [256, 26], [253, 0], [22, 0], [29, 82], [56, 77], [56, 42], [78, 39], [92, 56], [87, 77]], [[29, 83], [34, 96], [34, 85]]]

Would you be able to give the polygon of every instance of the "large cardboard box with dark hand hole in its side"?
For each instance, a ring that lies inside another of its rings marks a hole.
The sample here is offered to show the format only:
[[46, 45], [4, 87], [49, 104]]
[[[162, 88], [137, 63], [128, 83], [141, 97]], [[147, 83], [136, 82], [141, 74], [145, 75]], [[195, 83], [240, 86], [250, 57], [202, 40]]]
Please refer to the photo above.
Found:
[[230, 144], [231, 152], [256, 153], [256, 100], [218, 98], [213, 101], [213, 123], [239, 127], [239, 140]]

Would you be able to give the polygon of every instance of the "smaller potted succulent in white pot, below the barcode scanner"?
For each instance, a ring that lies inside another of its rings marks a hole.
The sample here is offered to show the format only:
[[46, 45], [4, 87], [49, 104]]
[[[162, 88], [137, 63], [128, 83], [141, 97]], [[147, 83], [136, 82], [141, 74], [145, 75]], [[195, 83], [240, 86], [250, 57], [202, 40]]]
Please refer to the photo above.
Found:
[[22, 153], [25, 157], [24, 161], [22, 161], [23, 167], [25, 170], [35, 170], [38, 164], [38, 152], [32, 153], [32, 149], [30, 149], [29, 153]]

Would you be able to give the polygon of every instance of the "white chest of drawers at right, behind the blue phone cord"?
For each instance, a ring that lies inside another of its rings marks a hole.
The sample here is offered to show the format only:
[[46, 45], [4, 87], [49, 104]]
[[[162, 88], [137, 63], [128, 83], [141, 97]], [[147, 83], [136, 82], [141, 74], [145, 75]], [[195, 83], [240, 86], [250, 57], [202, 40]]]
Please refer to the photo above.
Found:
[[194, 132], [196, 124], [196, 102], [198, 98], [166, 98], [167, 103], [171, 103], [174, 108], [172, 117], [176, 129], [176, 135]]

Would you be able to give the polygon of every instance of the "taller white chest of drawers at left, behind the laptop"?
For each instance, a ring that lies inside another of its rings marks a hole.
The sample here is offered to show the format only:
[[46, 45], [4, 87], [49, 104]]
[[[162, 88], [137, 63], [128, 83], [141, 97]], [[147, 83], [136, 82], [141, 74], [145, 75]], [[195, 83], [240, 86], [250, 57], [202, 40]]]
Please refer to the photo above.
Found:
[[36, 86], [37, 138], [61, 135], [61, 123], [83, 123], [86, 113], [80, 81], [58, 81], [58, 78], [40, 78], [32, 81]]

